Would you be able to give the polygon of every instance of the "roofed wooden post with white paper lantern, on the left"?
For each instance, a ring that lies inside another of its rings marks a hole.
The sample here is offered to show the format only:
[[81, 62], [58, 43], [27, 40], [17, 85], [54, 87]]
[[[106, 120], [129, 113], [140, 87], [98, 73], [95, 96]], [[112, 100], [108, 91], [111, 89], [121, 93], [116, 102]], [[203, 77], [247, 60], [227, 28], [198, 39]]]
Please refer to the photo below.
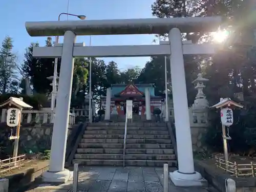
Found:
[[[14, 147], [13, 147], [13, 157], [18, 156], [18, 142], [19, 142], [19, 130], [20, 130], [20, 122], [22, 119], [22, 109], [33, 107], [23, 101], [23, 98], [10, 97], [7, 101], [0, 104], [1, 106], [8, 106], [7, 111], [7, 119], [6, 123], [8, 126], [12, 127], [11, 135], [9, 139], [14, 139]], [[16, 130], [13, 130], [13, 127], [16, 126]], [[13, 159], [14, 166], [16, 166], [17, 158]]]

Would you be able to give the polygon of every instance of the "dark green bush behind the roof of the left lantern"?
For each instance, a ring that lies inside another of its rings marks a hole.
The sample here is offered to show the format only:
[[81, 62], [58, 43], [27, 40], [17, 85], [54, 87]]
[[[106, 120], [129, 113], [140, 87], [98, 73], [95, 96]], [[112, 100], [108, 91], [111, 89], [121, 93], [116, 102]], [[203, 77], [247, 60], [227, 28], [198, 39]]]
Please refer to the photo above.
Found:
[[35, 94], [31, 96], [19, 95], [19, 94], [4, 94], [4, 95], [0, 95], [0, 103], [5, 102], [10, 97], [17, 97], [17, 98], [22, 97], [24, 102], [33, 106], [33, 110], [39, 110], [42, 104], [44, 104], [47, 101], [47, 97], [43, 94]]

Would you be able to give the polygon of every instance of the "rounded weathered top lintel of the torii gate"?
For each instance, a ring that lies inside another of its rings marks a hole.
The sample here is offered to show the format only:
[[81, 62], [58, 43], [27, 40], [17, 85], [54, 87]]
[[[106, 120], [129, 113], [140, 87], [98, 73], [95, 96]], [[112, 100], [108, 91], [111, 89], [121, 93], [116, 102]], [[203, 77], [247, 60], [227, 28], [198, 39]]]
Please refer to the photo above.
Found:
[[68, 20], [26, 22], [30, 36], [61, 36], [66, 31], [76, 35], [163, 34], [177, 27], [182, 33], [214, 32], [221, 25], [217, 17], [176, 17], [108, 20]]

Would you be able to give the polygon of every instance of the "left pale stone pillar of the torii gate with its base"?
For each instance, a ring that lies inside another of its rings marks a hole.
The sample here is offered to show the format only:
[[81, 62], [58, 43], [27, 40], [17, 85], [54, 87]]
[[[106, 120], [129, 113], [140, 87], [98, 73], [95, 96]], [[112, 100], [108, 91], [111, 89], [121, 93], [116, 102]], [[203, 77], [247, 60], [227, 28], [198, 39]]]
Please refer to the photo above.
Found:
[[64, 34], [58, 99], [53, 125], [51, 159], [48, 172], [42, 176], [45, 182], [67, 182], [70, 172], [64, 169], [66, 144], [68, 136], [71, 88], [74, 70], [73, 46], [76, 35], [72, 31]]

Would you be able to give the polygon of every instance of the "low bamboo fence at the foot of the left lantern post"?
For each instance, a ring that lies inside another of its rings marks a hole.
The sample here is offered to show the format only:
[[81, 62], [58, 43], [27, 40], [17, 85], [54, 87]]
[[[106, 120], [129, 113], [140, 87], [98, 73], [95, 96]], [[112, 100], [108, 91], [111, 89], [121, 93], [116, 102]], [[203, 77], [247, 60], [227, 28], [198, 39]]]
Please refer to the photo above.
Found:
[[25, 157], [26, 155], [20, 155], [17, 157], [10, 157], [8, 159], [0, 160], [0, 174], [3, 174], [14, 168], [20, 168], [23, 165], [22, 162], [25, 160]]

